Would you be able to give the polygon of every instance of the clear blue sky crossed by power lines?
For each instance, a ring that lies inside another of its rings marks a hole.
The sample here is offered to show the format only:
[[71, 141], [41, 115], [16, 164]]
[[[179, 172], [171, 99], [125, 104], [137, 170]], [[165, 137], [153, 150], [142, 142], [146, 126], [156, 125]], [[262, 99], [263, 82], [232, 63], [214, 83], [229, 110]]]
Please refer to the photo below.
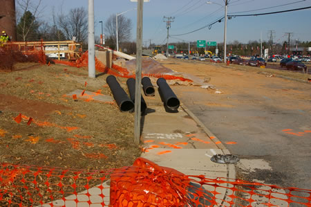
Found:
[[[35, 0], [37, 1], [37, 0]], [[182, 33], [196, 30], [205, 26], [220, 17], [224, 16], [225, 0], [150, 0], [144, 3], [144, 26], [143, 39], [145, 42], [161, 44], [166, 42], [167, 29], [163, 22], [163, 16], [176, 17], [171, 23], [170, 35], [179, 35]], [[233, 12], [242, 12], [247, 10], [256, 10], [238, 14], [254, 14], [263, 12], [274, 12], [279, 10], [290, 10], [294, 8], [303, 8], [311, 6], [311, 0], [228, 0], [228, 14]], [[115, 13], [124, 12], [137, 6], [130, 0], [94, 0], [95, 4], [95, 35], [100, 35], [101, 24], [98, 21], [106, 19]], [[285, 6], [281, 6], [288, 4]], [[55, 10], [64, 12], [70, 8], [85, 7], [88, 8], [88, 0], [42, 0], [44, 14], [48, 19], [51, 16], [51, 7]], [[221, 6], [223, 5], [223, 6]], [[274, 8], [271, 8], [274, 7]], [[258, 10], [261, 8], [270, 8]], [[133, 22], [132, 39], [135, 40], [136, 16], [137, 11], [131, 10], [124, 16], [130, 18]], [[285, 12], [276, 15], [266, 15], [257, 17], [235, 17], [227, 21], [227, 42], [238, 40], [247, 43], [249, 40], [259, 40], [261, 33], [263, 40], [268, 40], [268, 31], [274, 30], [274, 42], [283, 42], [286, 39], [285, 33], [294, 33], [293, 39], [299, 41], [311, 41], [311, 9], [299, 10], [294, 12]], [[207, 41], [223, 42], [224, 21], [214, 24], [211, 29], [204, 28], [189, 35], [178, 36], [178, 39], [170, 38], [170, 42], [196, 41], [204, 39]], [[181, 40], [182, 39], [182, 40]]]

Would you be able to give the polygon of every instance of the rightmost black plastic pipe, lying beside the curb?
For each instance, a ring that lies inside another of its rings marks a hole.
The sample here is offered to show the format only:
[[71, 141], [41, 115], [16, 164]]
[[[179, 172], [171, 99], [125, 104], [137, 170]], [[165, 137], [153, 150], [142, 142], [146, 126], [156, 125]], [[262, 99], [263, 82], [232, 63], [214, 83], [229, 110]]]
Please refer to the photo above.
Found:
[[172, 111], [177, 110], [180, 106], [180, 101], [172, 91], [171, 87], [169, 87], [169, 84], [167, 84], [167, 81], [164, 78], [159, 78], [157, 84], [164, 105]]

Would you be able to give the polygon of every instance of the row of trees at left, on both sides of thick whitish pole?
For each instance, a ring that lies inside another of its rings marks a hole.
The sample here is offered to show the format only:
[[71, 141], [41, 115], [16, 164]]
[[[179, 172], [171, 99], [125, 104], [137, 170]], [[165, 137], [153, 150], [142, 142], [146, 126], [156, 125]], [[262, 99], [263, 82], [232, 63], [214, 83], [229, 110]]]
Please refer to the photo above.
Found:
[[[49, 21], [44, 20], [44, 5], [41, 0], [17, 0], [17, 41], [63, 41], [75, 37], [76, 42], [87, 44], [88, 41], [88, 11], [86, 8], [71, 8], [68, 12], [60, 9], [52, 15]], [[127, 48], [128, 53], [133, 53], [135, 42], [131, 41], [131, 19], [119, 15], [118, 39], [120, 47]], [[104, 23], [106, 46], [116, 48], [116, 20], [111, 15]], [[100, 44], [100, 36], [95, 36], [95, 44]], [[84, 47], [87, 48], [87, 47]], [[135, 48], [135, 50], [134, 50]]]

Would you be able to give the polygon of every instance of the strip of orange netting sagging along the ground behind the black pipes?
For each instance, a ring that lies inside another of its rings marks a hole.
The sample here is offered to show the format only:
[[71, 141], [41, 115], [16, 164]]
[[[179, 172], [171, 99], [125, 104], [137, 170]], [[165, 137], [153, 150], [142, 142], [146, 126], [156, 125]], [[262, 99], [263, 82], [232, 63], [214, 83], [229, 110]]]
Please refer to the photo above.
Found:
[[[69, 61], [62, 61], [62, 60], [55, 60], [55, 63], [57, 64], [66, 64], [68, 66], [74, 66], [74, 67], [85, 67], [88, 66], [88, 51], [86, 51], [79, 60], [76, 62], [69, 62]], [[111, 69], [107, 66], [105, 66], [100, 60], [98, 60], [95, 57], [95, 69], [101, 73], [108, 73], [110, 75], [119, 76], [122, 78], [135, 78], [135, 74], [131, 74], [127, 69], [123, 68], [122, 66], [118, 66], [116, 64], [112, 64]], [[166, 80], [182, 80], [182, 81], [188, 81], [193, 82], [190, 79], [182, 78], [176, 75], [166, 75], [166, 74], [152, 74], [152, 73], [145, 73], [142, 74], [142, 77], [149, 76], [154, 78], [165, 78]]]

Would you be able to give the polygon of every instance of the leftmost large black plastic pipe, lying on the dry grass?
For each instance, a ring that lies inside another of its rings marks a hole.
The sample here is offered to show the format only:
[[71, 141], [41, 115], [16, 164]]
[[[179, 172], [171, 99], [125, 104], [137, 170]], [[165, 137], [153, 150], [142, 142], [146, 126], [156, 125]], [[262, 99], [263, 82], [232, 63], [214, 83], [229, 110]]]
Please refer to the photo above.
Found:
[[134, 110], [134, 103], [129, 98], [129, 96], [127, 96], [124, 89], [122, 89], [122, 87], [120, 86], [119, 82], [117, 82], [115, 76], [109, 75], [106, 78], [106, 82], [107, 84], [109, 84], [111, 92], [113, 93], [113, 98], [117, 102], [120, 110], [132, 112]]

